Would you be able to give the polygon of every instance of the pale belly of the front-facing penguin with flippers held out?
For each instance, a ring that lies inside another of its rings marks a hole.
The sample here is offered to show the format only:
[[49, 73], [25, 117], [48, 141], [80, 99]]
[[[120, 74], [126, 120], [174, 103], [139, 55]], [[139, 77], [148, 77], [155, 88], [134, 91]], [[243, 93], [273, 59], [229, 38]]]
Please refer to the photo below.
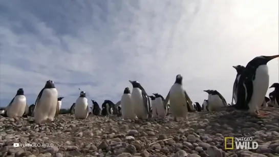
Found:
[[187, 119], [188, 108], [184, 90], [181, 85], [174, 84], [169, 90], [170, 113], [173, 117]]

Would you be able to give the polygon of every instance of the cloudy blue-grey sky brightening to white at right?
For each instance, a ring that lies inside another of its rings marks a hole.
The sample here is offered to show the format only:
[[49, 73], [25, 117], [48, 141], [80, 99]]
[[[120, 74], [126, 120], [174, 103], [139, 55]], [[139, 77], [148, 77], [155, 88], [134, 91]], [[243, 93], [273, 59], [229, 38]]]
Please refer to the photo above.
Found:
[[90, 106], [116, 103], [128, 80], [165, 97], [177, 74], [193, 102], [216, 89], [230, 103], [232, 65], [278, 54], [278, 0], [0, 0], [0, 21], [0, 106], [18, 88], [34, 103], [47, 80], [62, 108], [78, 88]]

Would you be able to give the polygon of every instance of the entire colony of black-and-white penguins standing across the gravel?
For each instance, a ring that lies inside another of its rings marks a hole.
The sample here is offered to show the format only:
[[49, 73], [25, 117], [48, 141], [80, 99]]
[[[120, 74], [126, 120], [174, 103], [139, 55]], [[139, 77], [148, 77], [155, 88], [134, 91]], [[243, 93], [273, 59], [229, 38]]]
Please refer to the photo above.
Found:
[[[104, 100], [101, 108], [94, 100], [91, 100], [92, 106], [89, 106], [86, 93], [81, 91], [70, 108], [70, 114], [76, 119], [86, 119], [91, 114], [94, 116], [118, 115], [123, 119], [163, 118], [171, 115], [174, 121], [178, 121], [179, 118], [187, 120], [189, 112], [213, 112], [232, 108], [248, 111], [249, 114], [257, 117], [265, 117], [268, 114], [265, 111], [260, 112], [260, 108], [279, 107], [279, 83], [273, 83], [269, 87], [267, 66], [270, 60], [277, 57], [279, 55], [258, 56], [246, 66], [233, 66], [237, 70], [237, 76], [233, 83], [231, 104], [227, 104], [224, 97], [217, 90], [212, 89], [204, 90], [208, 98], [203, 101], [202, 105], [198, 102], [192, 103], [183, 88], [183, 77], [178, 74], [166, 98], [158, 93], [148, 95], [138, 81], [129, 80], [133, 85], [132, 92], [130, 88], [125, 87], [119, 102], [114, 104], [110, 100]], [[266, 97], [268, 88], [274, 88], [274, 91]], [[63, 98], [58, 97], [54, 82], [48, 80], [34, 104], [27, 105], [24, 89], [19, 88], [8, 106], [0, 109], [0, 115], [10, 118], [34, 117], [37, 124], [52, 122], [59, 114]]]

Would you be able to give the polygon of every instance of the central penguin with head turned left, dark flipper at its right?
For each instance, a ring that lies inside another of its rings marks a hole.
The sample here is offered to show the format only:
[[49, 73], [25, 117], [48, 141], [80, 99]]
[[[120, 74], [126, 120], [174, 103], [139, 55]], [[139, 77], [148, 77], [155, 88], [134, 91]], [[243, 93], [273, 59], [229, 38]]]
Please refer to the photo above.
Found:
[[139, 119], [147, 119], [148, 117], [152, 117], [150, 113], [150, 100], [144, 88], [138, 81], [129, 80], [129, 82], [133, 85], [131, 97], [133, 106], [135, 107], [135, 114]]

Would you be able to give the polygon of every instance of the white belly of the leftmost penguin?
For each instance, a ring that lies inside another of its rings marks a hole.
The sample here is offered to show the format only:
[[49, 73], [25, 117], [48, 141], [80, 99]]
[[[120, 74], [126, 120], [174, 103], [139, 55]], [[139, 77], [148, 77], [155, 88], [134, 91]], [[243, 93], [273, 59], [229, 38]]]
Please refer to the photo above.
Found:
[[22, 117], [25, 113], [26, 97], [23, 95], [15, 96], [12, 104], [7, 108], [7, 116], [10, 118]]

